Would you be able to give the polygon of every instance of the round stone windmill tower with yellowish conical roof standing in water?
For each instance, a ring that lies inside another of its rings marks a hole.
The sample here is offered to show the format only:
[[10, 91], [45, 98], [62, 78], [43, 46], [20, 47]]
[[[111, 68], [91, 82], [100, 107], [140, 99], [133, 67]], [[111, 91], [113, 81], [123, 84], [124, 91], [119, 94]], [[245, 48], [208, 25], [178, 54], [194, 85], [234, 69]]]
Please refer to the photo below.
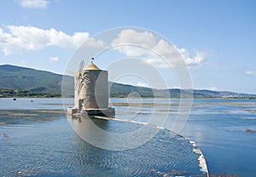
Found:
[[68, 113], [113, 117], [115, 111], [108, 107], [108, 71], [101, 70], [93, 60], [84, 69], [82, 61], [75, 73], [75, 107]]

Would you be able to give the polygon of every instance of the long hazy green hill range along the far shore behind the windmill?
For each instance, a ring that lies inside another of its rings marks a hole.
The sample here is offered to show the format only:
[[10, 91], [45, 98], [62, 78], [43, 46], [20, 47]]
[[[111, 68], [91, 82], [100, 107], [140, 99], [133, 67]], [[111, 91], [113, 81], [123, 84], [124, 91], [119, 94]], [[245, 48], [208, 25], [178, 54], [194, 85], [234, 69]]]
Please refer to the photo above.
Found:
[[[66, 77], [70, 89], [68, 95], [73, 95], [73, 77]], [[49, 71], [38, 71], [31, 68], [3, 65], [0, 66], [0, 95], [12, 95], [16, 94], [12, 90], [11, 94], [4, 94], [3, 90], [19, 89], [22, 92], [36, 93], [36, 94], [18, 94], [22, 95], [42, 95], [49, 96], [60, 96], [61, 95], [61, 81], [62, 75], [55, 74]], [[183, 97], [189, 97], [193, 92], [194, 98], [256, 98], [256, 94], [237, 94], [234, 92], [226, 91], [212, 91], [212, 90], [184, 90], [178, 88], [170, 89], [153, 89], [145, 87], [137, 87], [128, 84], [112, 83], [109, 82], [110, 96], [111, 97], [127, 97], [131, 93], [138, 93], [142, 97], [159, 97], [166, 98], [169, 94], [172, 98], [180, 98], [182, 93]], [[46, 94], [45, 94], [46, 93]], [[41, 95], [41, 96], [42, 96]], [[16, 96], [16, 95], [15, 95]]]

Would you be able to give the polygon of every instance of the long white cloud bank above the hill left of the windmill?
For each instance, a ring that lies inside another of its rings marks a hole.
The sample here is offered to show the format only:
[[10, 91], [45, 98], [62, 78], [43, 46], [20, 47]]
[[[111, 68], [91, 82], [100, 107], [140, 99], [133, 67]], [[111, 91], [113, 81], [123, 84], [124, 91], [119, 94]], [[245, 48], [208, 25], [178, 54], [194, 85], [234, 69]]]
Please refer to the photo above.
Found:
[[48, 46], [73, 49], [90, 39], [91, 45], [102, 44], [90, 38], [88, 32], [75, 32], [68, 35], [55, 29], [41, 29], [33, 26], [5, 26], [0, 27], [0, 48], [5, 55], [21, 50], [44, 49]]

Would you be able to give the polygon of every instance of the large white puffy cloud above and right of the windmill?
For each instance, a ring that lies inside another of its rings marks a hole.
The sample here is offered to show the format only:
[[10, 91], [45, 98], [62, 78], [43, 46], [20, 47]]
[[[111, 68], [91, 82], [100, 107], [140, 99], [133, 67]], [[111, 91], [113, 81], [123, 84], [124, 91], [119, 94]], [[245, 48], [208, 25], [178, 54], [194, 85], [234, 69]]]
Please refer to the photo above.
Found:
[[166, 60], [171, 61], [172, 65], [177, 65], [182, 59], [188, 66], [201, 66], [207, 57], [206, 52], [196, 51], [192, 55], [187, 49], [177, 48], [176, 45], [154, 37], [148, 31], [135, 31], [133, 29], [121, 31], [111, 46], [127, 56], [142, 57], [148, 64], [160, 68], [170, 67]]

